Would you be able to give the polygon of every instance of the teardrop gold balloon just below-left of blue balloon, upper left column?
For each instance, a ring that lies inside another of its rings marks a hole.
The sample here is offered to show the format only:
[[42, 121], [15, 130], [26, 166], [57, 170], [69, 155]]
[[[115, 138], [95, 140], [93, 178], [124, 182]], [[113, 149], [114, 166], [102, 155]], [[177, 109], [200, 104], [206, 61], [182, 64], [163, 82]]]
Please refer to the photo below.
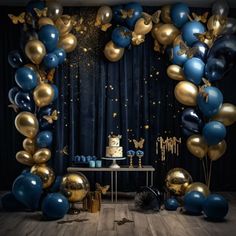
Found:
[[41, 41], [33, 39], [26, 43], [25, 54], [34, 64], [39, 65], [46, 55], [46, 49]]

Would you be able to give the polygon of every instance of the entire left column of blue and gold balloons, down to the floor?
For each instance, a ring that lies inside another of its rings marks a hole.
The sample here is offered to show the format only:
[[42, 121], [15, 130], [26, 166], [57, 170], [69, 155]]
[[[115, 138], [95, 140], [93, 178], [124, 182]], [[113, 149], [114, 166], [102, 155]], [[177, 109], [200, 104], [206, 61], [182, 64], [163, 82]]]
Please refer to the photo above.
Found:
[[9, 14], [14, 24], [23, 24], [23, 52], [14, 50], [8, 55], [9, 64], [16, 69], [17, 84], [9, 91], [10, 106], [18, 112], [16, 129], [25, 136], [24, 150], [17, 152], [16, 159], [30, 169], [16, 178], [12, 192], [2, 198], [2, 203], [6, 210], [42, 209], [47, 219], [62, 218], [69, 202], [81, 201], [89, 190], [82, 174], [56, 177], [46, 164], [51, 159], [53, 124], [58, 118], [54, 108], [59, 93], [54, 84], [55, 70], [65, 61], [66, 53], [77, 46], [71, 33], [75, 22], [62, 14], [58, 1], [39, 0], [30, 1], [19, 16]]

